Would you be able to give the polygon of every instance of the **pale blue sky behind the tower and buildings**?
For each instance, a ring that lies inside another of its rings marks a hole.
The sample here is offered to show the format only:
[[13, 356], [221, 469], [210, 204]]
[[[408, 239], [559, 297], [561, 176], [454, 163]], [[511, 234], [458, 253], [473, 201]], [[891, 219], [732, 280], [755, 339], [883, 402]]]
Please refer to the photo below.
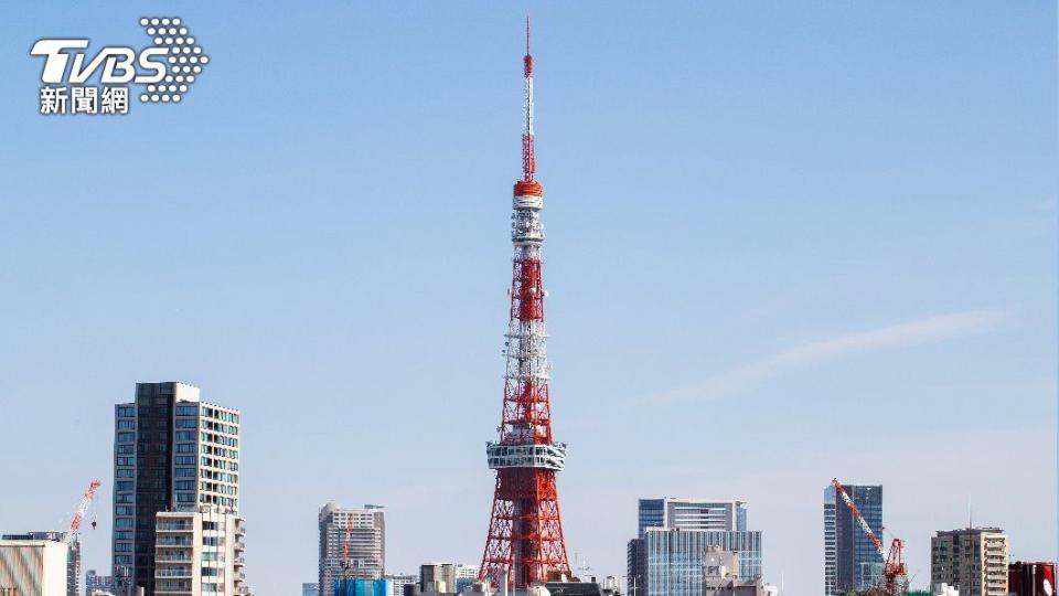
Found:
[[[243, 409], [248, 577], [317, 577], [317, 509], [386, 503], [387, 567], [478, 563], [502, 397], [523, 19], [570, 556], [635, 500], [740, 498], [822, 588], [832, 477], [1056, 554], [1053, 2], [0, 4], [0, 531], [104, 480], [113, 404]], [[42, 36], [212, 58], [179, 106], [36, 114]]]

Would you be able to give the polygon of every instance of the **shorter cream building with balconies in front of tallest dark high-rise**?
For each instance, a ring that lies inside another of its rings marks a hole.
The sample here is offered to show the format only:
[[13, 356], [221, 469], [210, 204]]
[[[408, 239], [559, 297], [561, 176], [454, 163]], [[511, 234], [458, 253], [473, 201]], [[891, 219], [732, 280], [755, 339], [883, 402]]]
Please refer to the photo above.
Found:
[[184, 505], [156, 517], [154, 587], [186, 596], [244, 593], [243, 520], [215, 505]]

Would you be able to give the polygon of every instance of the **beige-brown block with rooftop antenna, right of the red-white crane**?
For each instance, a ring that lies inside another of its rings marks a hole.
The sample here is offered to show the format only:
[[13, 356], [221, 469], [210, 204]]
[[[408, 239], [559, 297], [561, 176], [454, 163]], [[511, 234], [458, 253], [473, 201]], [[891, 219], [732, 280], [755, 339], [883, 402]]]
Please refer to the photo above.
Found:
[[930, 539], [931, 584], [949, 584], [960, 596], [1005, 596], [1007, 579], [1007, 535], [999, 528], [939, 531]]

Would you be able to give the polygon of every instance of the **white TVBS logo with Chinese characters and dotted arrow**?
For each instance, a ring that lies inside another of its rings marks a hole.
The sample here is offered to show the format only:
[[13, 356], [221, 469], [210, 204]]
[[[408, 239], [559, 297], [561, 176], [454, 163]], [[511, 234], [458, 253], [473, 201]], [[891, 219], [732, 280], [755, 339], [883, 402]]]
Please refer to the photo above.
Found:
[[30, 54], [44, 58], [41, 114], [128, 114], [130, 84], [141, 86], [141, 103], [182, 102], [210, 57], [180, 19], [145, 17], [140, 26], [152, 42], [140, 50], [105, 46], [89, 54], [87, 39], [38, 40]]

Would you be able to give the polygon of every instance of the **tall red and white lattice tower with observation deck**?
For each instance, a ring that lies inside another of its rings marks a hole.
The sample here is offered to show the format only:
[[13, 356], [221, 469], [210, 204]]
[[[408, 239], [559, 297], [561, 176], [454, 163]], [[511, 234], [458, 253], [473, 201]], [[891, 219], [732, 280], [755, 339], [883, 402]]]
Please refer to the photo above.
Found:
[[511, 241], [515, 246], [511, 281], [511, 322], [504, 375], [500, 439], [486, 447], [496, 470], [496, 491], [482, 556], [480, 577], [515, 590], [558, 574], [570, 575], [559, 519], [555, 472], [566, 462], [566, 444], [552, 436], [548, 401], [547, 334], [541, 279], [541, 210], [544, 189], [534, 180], [533, 55], [526, 20], [525, 129], [522, 134], [522, 180], [515, 182]]

